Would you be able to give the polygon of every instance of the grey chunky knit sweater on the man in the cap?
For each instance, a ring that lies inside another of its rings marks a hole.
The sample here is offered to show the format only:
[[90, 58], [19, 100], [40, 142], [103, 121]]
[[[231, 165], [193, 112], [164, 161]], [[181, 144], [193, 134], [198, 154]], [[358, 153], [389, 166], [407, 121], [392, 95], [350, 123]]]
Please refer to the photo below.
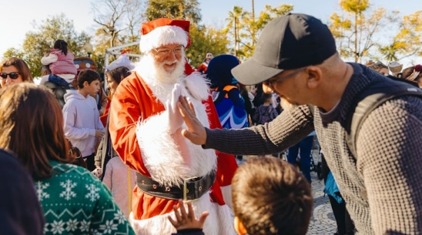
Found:
[[321, 143], [358, 234], [422, 234], [422, 99], [389, 100], [365, 119], [356, 142], [357, 162], [345, 139], [347, 116], [359, 91], [388, 79], [354, 67], [339, 103], [330, 112], [303, 105], [263, 126], [208, 130], [208, 149], [237, 155], [277, 153], [312, 130]]

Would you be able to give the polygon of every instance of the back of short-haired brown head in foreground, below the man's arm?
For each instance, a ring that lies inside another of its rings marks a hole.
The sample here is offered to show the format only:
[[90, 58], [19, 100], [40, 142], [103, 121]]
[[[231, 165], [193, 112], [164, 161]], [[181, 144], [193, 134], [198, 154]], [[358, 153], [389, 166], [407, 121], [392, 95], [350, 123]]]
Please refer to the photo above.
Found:
[[306, 234], [312, 191], [293, 165], [272, 157], [249, 158], [231, 187], [238, 234]]

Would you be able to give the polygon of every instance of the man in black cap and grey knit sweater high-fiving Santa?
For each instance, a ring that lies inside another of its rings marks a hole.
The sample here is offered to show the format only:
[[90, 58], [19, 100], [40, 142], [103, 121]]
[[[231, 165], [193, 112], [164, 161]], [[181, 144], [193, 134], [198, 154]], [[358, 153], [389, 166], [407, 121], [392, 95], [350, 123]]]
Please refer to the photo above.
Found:
[[373, 109], [353, 149], [347, 135], [356, 100], [372, 84], [393, 81], [361, 64], [344, 63], [328, 27], [310, 15], [289, 14], [268, 23], [252, 58], [232, 73], [242, 84], [263, 82], [284, 100], [286, 112], [263, 126], [210, 130], [180, 98], [188, 127], [184, 137], [204, 149], [263, 155], [287, 149], [316, 130], [359, 234], [422, 232], [420, 97], [392, 98]]

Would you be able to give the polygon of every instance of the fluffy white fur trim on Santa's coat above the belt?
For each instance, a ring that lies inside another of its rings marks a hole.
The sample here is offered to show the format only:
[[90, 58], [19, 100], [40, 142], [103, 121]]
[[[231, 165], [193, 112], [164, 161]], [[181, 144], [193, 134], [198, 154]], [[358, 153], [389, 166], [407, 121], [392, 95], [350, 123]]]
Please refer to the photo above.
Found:
[[[189, 82], [188, 82], [189, 81]], [[157, 83], [156, 83], [157, 84]], [[204, 98], [208, 98], [208, 86], [203, 77], [191, 75], [180, 79], [182, 96], [187, 96], [195, 107], [196, 116], [203, 126], [209, 127]], [[164, 86], [150, 86], [163, 89]], [[171, 90], [168, 91], [171, 93]], [[161, 103], [166, 103], [161, 96]], [[183, 124], [182, 128], [186, 128]], [[180, 129], [181, 130], [181, 129]], [[212, 149], [202, 149], [185, 139], [180, 130], [171, 134], [168, 130], [167, 110], [150, 116], [138, 123], [136, 137], [145, 167], [154, 181], [161, 185], [180, 185], [183, 179], [194, 176], [205, 176], [217, 169], [217, 156]]]

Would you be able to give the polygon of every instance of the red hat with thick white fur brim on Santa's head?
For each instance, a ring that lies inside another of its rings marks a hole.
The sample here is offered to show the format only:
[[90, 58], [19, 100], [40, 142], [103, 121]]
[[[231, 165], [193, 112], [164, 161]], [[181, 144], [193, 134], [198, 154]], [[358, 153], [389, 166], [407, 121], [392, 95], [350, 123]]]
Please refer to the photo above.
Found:
[[140, 52], [149, 52], [162, 45], [180, 44], [189, 47], [189, 21], [160, 18], [142, 24]]

